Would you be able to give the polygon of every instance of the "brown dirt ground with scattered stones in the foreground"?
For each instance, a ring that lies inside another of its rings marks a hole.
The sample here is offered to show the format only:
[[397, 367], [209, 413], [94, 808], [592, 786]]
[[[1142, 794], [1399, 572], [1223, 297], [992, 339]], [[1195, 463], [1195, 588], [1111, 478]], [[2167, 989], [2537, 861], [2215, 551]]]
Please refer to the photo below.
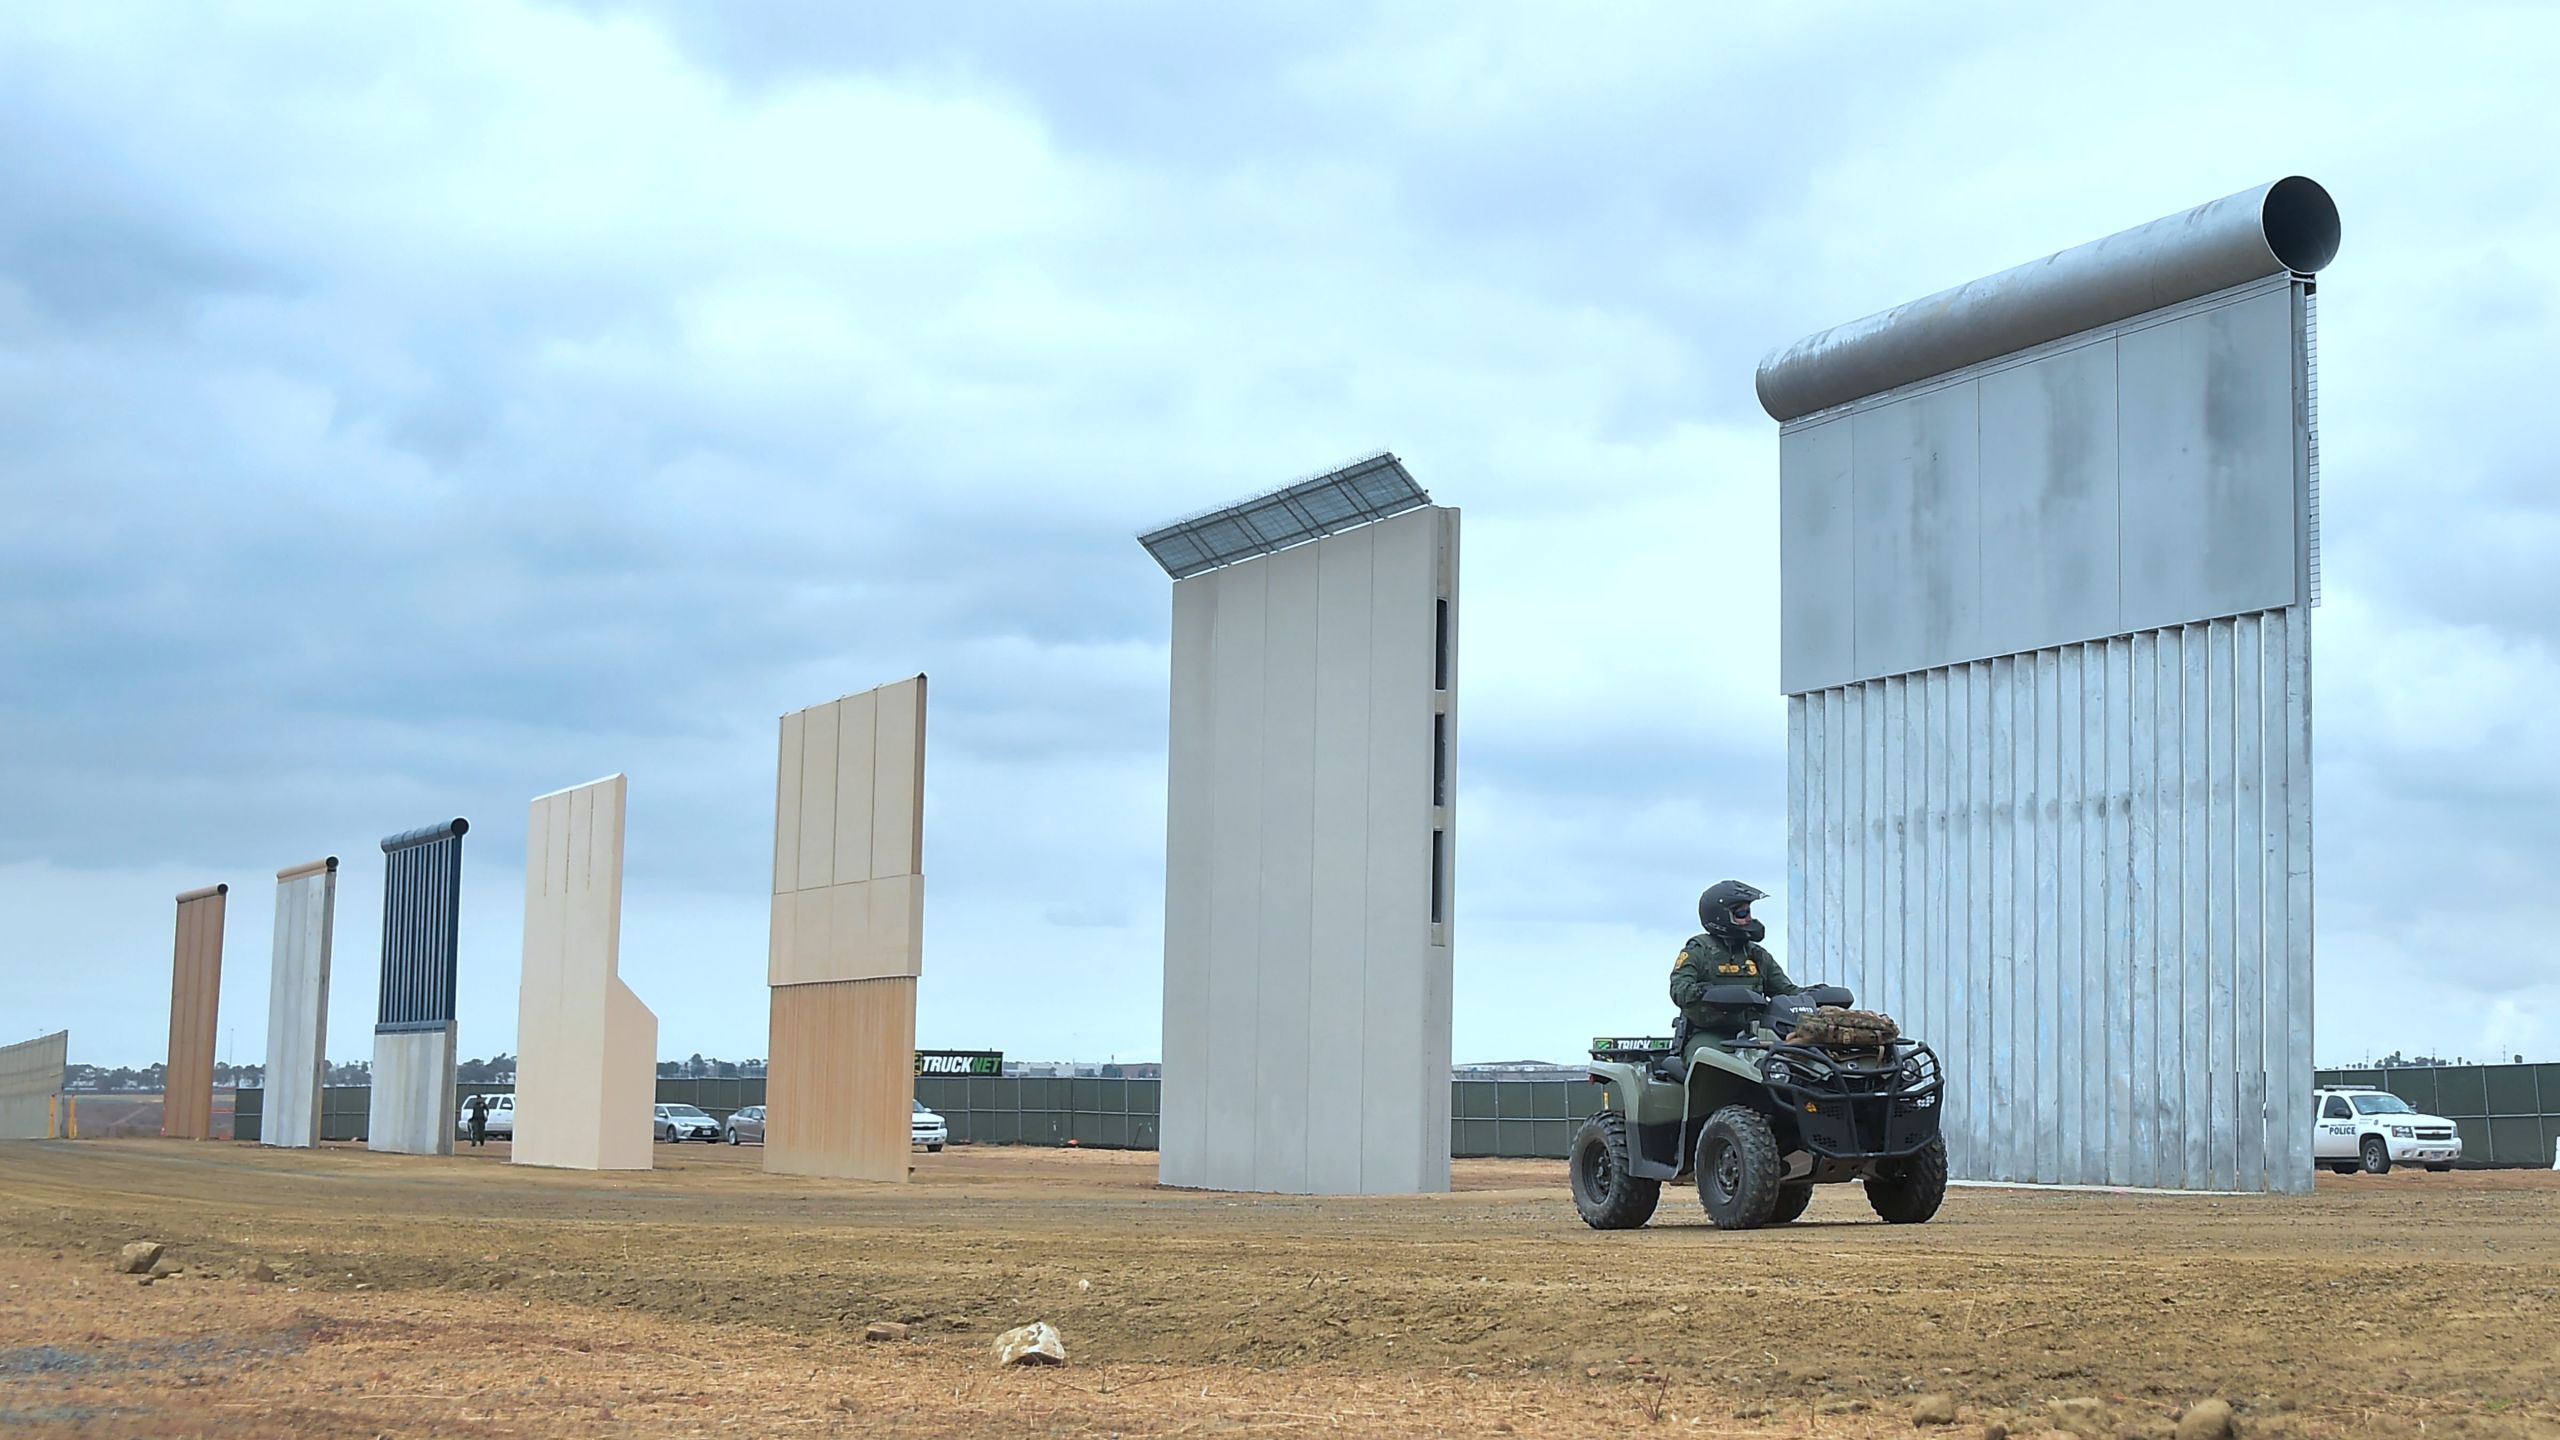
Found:
[[[2560, 1437], [2560, 1174], [2312, 1197], [1853, 1186], [1754, 1235], [1559, 1163], [1457, 1194], [1155, 1189], [1155, 1156], [973, 1148], [914, 1184], [527, 1171], [504, 1145], [0, 1148], [5, 1435], [2240, 1435]], [[161, 1240], [184, 1273], [113, 1273]], [[271, 1268], [276, 1279], [253, 1279]], [[911, 1338], [863, 1343], [873, 1320]], [[1050, 1320], [1070, 1363], [996, 1368]]]

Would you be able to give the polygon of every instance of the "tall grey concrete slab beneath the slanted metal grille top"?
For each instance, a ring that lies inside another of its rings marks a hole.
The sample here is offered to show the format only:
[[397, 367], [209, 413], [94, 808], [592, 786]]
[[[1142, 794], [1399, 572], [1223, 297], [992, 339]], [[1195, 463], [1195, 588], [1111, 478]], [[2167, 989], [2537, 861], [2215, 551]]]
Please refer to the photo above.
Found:
[[1423, 497], [1172, 587], [1165, 1184], [1449, 1189], [1457, 582]]

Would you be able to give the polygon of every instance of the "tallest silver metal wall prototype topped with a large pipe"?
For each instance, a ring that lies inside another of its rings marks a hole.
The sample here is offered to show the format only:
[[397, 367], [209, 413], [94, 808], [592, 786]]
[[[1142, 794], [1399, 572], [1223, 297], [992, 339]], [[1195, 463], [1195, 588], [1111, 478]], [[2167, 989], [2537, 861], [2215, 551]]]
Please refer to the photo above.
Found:
[[1772, 354], [1789, 969], [1958, 1179], [2312, 1184], [2317, 287], [2281, 179]]

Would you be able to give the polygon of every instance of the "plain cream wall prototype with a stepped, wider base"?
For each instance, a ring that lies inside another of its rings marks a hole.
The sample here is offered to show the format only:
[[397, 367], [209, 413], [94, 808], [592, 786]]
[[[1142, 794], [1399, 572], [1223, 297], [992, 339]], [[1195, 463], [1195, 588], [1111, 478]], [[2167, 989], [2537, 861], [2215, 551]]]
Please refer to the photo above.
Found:
[[532, 802], [517, 992], [515, 1163], [655, 1163], [658, 1017], [622, 984], [625, 776]]

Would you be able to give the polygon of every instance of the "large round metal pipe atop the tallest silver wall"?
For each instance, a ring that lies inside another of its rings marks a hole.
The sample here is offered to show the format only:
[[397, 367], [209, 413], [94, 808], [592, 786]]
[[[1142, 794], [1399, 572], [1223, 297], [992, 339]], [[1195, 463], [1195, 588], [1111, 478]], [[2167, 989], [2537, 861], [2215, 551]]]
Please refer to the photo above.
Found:
[[1989, 274], [1772, 351], [1774, 420], [2337, 259], [2337, 205], [2299, 174]]

